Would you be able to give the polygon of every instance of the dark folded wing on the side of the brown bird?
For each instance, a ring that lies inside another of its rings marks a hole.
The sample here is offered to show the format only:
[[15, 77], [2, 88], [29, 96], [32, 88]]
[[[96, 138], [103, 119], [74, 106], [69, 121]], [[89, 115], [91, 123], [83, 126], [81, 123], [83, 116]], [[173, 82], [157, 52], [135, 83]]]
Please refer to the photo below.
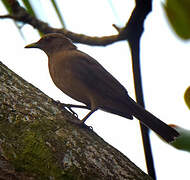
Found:
[[72, 73], [76, 75], [76, 78], [82, 79], [88, 88], [97, 93], [104, 94], [113, 100], [126, 102], [124, 99], [128, 96], [127, 90], [94, 58], [77, 50], [71, 54], [73, 56], [70, 58], [73, 61]]

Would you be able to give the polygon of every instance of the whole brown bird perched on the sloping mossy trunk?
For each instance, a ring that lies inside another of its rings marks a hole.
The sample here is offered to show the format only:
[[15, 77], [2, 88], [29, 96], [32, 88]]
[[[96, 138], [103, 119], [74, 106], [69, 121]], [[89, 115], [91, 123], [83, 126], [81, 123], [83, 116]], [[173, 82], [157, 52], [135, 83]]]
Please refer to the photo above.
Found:
[[70, 39], [59, 33], [51, 33], [25, 48], [39, 48], [48, 56], [48, 66], [55, 85], [71, 98], [84, 103], [91, 111], [117, 114], [143, 124], [171, 142], [179, 133], [138, 105], [127, 90], [104, 67], [88, 54], [77, 50]]

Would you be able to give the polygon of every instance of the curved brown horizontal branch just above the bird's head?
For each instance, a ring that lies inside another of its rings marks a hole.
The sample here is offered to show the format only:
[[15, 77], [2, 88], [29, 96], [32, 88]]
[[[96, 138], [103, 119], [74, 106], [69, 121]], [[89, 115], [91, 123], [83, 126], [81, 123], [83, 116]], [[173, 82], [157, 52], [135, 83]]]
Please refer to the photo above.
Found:
[[58, 29], [50, 27], [47, 23], [40, 21], [39, 19], [31, 16], [23, 7], [19, 5], [17, 1], [13, 1], [10, 3], [12, 8], [11, 15], [2, 15], [0, 16], [1, 19], [10, 18], [15, 21], [23, 22], [26, 24], [30, 24], [34, 28], [38, 29], [42, 33], [63, 33], [68, 38], [72, 39], [73, 42], [76, 43], [83, 43], [88, 45], [98, 45], [98, 46], [105, 46], [117, 41], [124, 39], [119, 34], [117, 35], [110, 35], [110, 36], [103, 36], [103, 37], [91, 37], [83, 34], [74, 33], [69, 31], [65, 28]]

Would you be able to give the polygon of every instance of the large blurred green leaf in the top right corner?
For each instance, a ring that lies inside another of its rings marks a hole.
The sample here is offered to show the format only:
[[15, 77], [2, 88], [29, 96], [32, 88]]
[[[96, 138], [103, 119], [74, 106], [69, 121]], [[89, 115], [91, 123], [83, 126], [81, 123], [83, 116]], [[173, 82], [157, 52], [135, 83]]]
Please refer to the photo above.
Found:
[[188, 40], [190, 38], [190, 0], [166, 0], [163, 7], [176, 34]]

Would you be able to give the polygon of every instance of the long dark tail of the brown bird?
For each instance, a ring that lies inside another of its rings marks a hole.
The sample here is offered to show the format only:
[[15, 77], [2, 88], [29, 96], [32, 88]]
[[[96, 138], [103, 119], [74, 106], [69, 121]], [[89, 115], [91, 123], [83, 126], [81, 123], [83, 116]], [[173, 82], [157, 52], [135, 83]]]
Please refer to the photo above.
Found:
[[132, 99], [131, 102], [133, 116], [140, 120], [145, 126], [152, 129], [165, 141], [170, 143], [174, 141], [177, 136], [180, 135], [175, 129], [162, 122], [160, 119], [158, 119], [153, 114], [145, 110]]

